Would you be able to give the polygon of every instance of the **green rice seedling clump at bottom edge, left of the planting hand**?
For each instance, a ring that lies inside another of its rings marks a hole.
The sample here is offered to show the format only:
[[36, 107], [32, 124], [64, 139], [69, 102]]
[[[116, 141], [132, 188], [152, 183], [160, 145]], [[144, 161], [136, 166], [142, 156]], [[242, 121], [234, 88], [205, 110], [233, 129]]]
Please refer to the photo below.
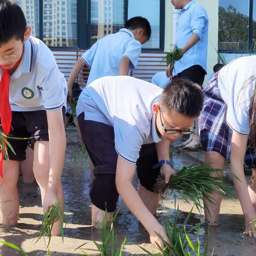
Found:
[[[121, 246], [117, 246], [116, 236], [114, 232], [114, 222], [117, 214], [118, 211], [111, 218], [110, 224], [107, 225], [107, 212], [105, 212], [102, 222], [102, 229], [99, 229], [101, 244], [93, 240], [93, 243], [97, 246], [97, 249], [101, 256], [122, 256], [123, 254], [123, 248], [126, 242], [126, 238], [124, 239]], [[84, 246], [85, 244], [82, 244], [75, 250], [79, 249], [79, 251], [81, 251], [84, 255], [91, 256], [91, 254], [85, 252], [84, 250], [81, 250], [81, 247]]]

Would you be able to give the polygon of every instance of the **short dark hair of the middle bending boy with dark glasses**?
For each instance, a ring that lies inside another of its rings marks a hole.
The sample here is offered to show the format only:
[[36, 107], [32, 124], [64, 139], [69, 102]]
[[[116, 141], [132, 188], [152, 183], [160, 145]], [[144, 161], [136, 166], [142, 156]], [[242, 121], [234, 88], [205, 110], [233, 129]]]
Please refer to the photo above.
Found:
[[187, 79], [174, 79], [165, 87], [159, 103], [164, 112], [173, 110], [187, 117], [198, 117], [203, 109], [201, 87]]

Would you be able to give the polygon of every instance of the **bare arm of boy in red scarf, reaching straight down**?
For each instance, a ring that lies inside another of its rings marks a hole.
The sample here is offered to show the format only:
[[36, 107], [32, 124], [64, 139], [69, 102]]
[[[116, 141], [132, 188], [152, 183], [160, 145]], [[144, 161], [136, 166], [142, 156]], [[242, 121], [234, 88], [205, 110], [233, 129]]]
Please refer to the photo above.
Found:
[[44, 212], [58, 200], [58, 191], [66, 151], [66, 134], [62, 109], [46, 111], [46, 114], [50, 142], [50, 172], [43, 203]]

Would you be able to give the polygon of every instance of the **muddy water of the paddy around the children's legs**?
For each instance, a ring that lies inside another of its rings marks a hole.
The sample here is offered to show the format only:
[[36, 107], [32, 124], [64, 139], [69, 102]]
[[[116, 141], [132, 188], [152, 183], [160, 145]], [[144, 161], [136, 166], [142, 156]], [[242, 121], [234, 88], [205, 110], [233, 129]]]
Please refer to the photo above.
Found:
[[[74, 251], [76, 247], [86, 243], [83, 249], [86, 252], [97, 255], [97, 250], [92, 243], [92, 239], [100, 241], [98, 231], [91, 228], [91, 209], [89, 198], [89, 184], [91, 180], [89, 162], [87, 157], [79, 150], [79, 141], [74, 129], [68, 132], [68, 147], [66, 155], [65, 170], [63, 171], [63, 188], [65, 191], [66, 213], [68, 225], [65, 231], [64, 243], [60, 237], [53, 237], [51, 240], [51, 255], [82, 255], [79, 251]], [[190, 164], [191, 160], [182, 157], [181, 154], [174, 155], [176, 167]], [[139, 184], [135, 178], [133, 185], [138, 188]], [[44, 251], [45, 242], [40, 239], [36, 244], [36, 237], [42, 220], [42, 205], [39, 191], [36, 185], [25, 185], [19, 182], [20, 193], [20, 220], [18, 227], [5, 229], [0, 226], [0, 239], [14, 243], [22, 247], [29, 255], [47, 255]], [[179, 204], [179, 223], [185, 220], [191, 206], [182, 202], [174, 196], [167, 197], [159, 205], [157, 219], [164, 223], [167, 218], [175, 215], [174, 202]], [[127, 237], [125, 255], [145, 254], [138, 247], [138, 244], [153, 251], [149, 244], [146, 230], [140, 225], [137, 219], [124, 206], [122, 199], [119, 199], [119, 215], [115, 223], [115, 232], [118, 241], [121, 243]], [[197, 210], [193, 211], [188, 227], [194, 227], [198, 223], [202, 224], [199, 239], [203, 245], [208, 241], [209, 251], [214, 248], [214, 254], [223, 255], [256, 255], [256, 242], [253, 238], [244, 237], [241, 206], [238, 199], [224, 198], [221, 207], [221, 225], [211, 228], [210, 235], [204, 227], [204, 216]], [[192, 235], [194, 238], [195, 235]], [[21, 255], [6, 246], [0, 246], [0, 255]], [[211, 255], [211, 253], [209, 253]]]

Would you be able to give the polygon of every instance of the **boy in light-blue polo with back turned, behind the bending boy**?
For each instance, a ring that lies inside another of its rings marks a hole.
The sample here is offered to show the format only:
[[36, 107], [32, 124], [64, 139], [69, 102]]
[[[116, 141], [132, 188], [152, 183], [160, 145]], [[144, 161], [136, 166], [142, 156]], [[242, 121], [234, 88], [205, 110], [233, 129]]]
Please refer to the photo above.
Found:
[[129, 70], [136, 68], [141, 45], [146, 43], [150, 36], [151, 27], [148, 20], [133, 17], [125, 23], [125, 28], [97, 41], [82, 55], [71, 71], [68, 79], [68, 96], [72, 97], [73, 84], [84, 65], [91, 69], [87, 86], [103, 76], [127, 76]]

